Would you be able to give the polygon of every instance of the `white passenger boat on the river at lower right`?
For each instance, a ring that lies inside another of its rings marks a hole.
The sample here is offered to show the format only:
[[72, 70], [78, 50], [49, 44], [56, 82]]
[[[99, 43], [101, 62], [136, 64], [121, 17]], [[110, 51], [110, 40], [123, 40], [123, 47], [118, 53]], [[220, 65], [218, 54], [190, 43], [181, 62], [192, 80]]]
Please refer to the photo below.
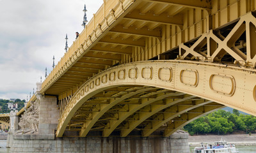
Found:
[[200, 147], [195, 147], [192, 153], [237, 153], [234, 144], [227, 143], [227, 141], [220, 140], [214, 143], [200, 143]]

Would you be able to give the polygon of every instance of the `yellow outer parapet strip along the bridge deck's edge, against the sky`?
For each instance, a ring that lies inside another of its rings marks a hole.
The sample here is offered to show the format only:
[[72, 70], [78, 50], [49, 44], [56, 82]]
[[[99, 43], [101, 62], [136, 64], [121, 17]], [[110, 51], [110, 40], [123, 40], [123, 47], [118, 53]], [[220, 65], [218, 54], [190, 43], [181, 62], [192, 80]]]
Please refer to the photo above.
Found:
[[131, 5], [131, 0], [104, 0], [97, 13], [93, 14], [93, 18], [83, 29], [79, 37], [74, 41], [72, 46], [68, 48], [67, 53], [61, 58], [58, 64], [51, 71], [49, 76], [42, 84], [41, 92], [50, 87], [56, 79], [61, 77], [67, 68], [76, 62], [80, 55], [84, 53], [97, 37], [112, 24], [116, 17]]

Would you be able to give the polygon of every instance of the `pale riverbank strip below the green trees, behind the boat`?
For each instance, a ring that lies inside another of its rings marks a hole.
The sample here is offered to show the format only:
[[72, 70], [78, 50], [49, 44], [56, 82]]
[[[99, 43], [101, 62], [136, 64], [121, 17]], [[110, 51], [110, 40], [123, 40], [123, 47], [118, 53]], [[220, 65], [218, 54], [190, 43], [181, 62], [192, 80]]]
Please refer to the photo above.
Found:
[[189, 146], [197, 146], [200, 142], [218, 142], [226, 140], [236, 145], [256, 145], [256, 134], [252, 135], [195, 135], [188, 137]]

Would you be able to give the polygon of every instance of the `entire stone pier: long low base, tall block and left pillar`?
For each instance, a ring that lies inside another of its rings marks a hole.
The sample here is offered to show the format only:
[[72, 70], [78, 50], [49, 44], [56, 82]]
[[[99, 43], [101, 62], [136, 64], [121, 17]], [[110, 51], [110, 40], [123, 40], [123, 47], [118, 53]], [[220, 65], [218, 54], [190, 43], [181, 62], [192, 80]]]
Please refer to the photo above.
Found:
[[[188, 133], [174, 133], [169, 137], [63, 137], [56, 138], [59, 113], [57, 99], [40, 94], [38, 83], [36, 98], [39, 100], [38, 131], [19, 133], [18, 117], [13, 115], [13, 126], [8, 136], [10, 152], [189, 152]], [[35, 106], [36, 107], [36, 106]], [[29, 108], [28, 108], [29, 110]], [[27, 110], [27, 112], [28, 112]], [[22, 120], [22, 119], [20, 119]], [[12, 121], [11, 121], [12, 122]]]

